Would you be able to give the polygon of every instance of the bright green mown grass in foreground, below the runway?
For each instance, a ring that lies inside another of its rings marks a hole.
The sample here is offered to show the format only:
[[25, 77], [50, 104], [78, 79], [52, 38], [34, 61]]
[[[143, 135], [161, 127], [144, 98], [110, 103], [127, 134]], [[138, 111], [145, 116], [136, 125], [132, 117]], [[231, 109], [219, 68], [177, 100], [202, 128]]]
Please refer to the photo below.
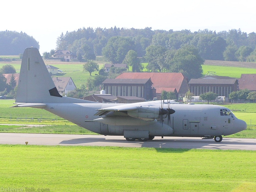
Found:
[[0, 145], [2, 188], [44, 191], [256, 191], [256, 153]]

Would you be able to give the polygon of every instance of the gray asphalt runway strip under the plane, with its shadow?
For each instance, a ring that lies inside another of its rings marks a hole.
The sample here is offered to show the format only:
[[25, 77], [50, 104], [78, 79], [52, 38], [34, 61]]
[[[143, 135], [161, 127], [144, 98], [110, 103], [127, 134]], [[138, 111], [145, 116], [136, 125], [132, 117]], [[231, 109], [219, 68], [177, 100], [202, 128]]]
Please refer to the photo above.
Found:
[[0, 144], [28, 145], [83, 145], [83, 146], [119, 146], [119, 147], [154, 147], [186, 149], [222, 149], [256, 150], [256, 139], [223, 138], [220, 143], [214, 139], [202, 140], [198, 137], [155, 137], [151, 141], [126, 141], [123, 136], [71, 135], [71, 134], [35, 134], [35, 133], [0, 133]]

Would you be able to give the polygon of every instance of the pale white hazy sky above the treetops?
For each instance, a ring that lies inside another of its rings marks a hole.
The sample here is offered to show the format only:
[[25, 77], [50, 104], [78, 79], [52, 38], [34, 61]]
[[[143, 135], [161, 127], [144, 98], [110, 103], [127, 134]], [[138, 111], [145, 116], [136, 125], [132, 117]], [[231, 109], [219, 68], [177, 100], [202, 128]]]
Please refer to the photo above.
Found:
[[191, 32], [209, 29], [223, 31], [241, 29], [247, 34], [256, 32], [255, 0], [87, 0], [31, 1], [4, 0], [1, 2], [0, 31], [22, 31], [33, 36], [40, 53], [56, 48], [57, 38], [66, 31], [79, 28], [136, 28], [152, 27]]

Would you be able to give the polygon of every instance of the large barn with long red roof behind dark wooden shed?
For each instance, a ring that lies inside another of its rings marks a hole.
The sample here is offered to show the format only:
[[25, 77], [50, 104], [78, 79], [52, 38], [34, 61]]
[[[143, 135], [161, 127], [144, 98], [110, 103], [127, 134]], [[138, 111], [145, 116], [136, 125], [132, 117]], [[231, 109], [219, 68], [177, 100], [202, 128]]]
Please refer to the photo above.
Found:
[[153, 87], [156, 89], [156, 94], [165, 91], [173, 91], [175, 89], [180, 96], [185, 97], [189, 90], [188, 81], [182, 73], [122, 73], [116, 79], [148, 79], [151, 78]]

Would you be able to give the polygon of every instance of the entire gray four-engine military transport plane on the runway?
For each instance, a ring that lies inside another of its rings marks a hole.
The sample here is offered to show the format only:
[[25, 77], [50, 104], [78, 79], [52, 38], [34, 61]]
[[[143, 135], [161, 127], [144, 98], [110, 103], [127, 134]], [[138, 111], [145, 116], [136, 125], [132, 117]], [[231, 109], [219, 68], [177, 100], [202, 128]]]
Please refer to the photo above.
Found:
[[222, 135], [247, 127], [246, 122], [223, 106], [174, 103], [99, 103], [62, 97], [38, 49], [30, 47], [23, 54], [16, 105], [12, 107], [45, 109], [95, 133], [123, 135], [127, 141], [180, 136], [214, 138], [220, 142]]

